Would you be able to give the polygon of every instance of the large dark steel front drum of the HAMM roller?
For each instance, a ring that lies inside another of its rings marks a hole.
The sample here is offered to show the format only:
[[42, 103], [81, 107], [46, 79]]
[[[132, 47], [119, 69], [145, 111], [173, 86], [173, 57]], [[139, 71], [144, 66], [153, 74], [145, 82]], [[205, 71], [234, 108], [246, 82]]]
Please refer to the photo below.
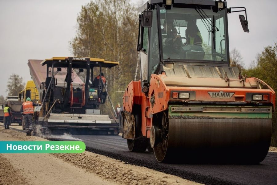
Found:
[[159, 162], [259, 163], [271, 142], [271, 119], [183, 119], [163, 116]]

